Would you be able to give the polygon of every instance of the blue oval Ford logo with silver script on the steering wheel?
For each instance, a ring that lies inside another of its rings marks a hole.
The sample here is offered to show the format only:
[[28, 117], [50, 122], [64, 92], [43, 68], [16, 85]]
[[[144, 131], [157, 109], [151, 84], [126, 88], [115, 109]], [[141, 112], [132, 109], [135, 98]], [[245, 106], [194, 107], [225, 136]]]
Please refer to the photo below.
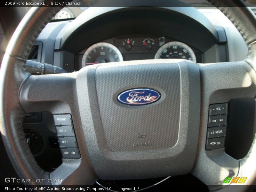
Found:
[[160, 93], [153, 89], [137, 88], [121, 92], [117, 100], [126, 105], [147, 105], [159, 100], [160, 97]]

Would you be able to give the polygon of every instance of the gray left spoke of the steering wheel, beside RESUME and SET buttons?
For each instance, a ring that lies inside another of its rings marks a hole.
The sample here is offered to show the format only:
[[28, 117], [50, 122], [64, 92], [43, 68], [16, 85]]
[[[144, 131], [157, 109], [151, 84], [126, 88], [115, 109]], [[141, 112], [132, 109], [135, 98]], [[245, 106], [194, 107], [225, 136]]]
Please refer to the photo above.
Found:
[[92, 185], [97, 181], [89, 163], [83, 130], [79, 129], [81, 123], [77, 112], [76, 74], [30, 76], [20, 91], [20, 105], [26, 113], [48, 111], [52, 114], [72, 115], [79, 147], [77, 151], [80, 151], [81, 158], [63, 157], [62, 164], [50, 173], [51, 180], [56, 181], [52, 185]]

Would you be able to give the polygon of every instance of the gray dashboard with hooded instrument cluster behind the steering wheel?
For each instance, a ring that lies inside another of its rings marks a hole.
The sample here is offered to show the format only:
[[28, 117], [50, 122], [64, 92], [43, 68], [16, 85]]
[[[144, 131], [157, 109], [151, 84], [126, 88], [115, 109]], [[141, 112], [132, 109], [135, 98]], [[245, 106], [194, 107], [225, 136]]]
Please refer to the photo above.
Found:
[[41, 54], [36, 61], [73, 72], [115, 61], [242, 59], [246, 44], [221, 14], [194, 7], [91, 7], [75, 20], [49, 23], [37, 39]]

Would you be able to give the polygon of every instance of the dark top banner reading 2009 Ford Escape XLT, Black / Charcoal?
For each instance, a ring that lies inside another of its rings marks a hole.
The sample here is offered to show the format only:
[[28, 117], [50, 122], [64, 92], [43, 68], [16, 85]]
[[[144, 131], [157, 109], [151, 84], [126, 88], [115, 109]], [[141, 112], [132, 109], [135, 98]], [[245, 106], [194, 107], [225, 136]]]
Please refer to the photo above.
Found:
[[[225, 2], [225, 0], [214, 0]], [[239, 0], [233, 0], [239, 2]], [[4, 0], [0, 7], [213, 7], [207, 0]], [[223, 4], [225, 6], [225, 4]], [[234, 6], [255, 7], [256, 0], [234, 3]]]

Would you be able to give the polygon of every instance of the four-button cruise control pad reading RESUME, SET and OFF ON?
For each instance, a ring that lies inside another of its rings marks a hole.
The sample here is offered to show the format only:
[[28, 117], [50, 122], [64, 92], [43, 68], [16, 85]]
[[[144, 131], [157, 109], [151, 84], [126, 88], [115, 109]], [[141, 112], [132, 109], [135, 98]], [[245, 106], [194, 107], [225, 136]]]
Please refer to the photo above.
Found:
[[54, 114], [55, 128], [62, 158], [80, 158], [70, 114]]

